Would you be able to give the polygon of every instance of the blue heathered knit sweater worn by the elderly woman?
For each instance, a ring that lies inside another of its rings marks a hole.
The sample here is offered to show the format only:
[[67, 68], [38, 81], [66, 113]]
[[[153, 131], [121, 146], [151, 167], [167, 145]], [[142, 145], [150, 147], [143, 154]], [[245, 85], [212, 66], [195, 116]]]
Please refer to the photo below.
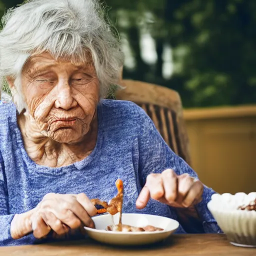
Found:
[[[98, 136], [92, 153], [64, 167], [47, 167], [27, 155], [17, 126], [13, 103], [0, 102], [0, 246], [31, 244], [37, 240], [28, 234], [18, 240], [10, 236], [15, 213], [34, 208], [49, 192], [81, 193], [108, 201], [116, 194], [114, 182], [124, 183], [123, 212], [141, 212], [177, 219], [176, 211], [158, 201], [137, 210], [135, 201], [146, 176], [172, 168], [177, 174], [196, 173], [165, 144], [150, 118], [134, 103], [102, 100], [98, 104]], [[204, 187], [203, 200], [196, 208], [205, 232], [219, 232], [206, 203], [214, 191]], [[191, 223], [192, 225], [193, 223]], [[196, 226], [195, 226], [196, 230]], [[177, 232], [184, 229], [180, 225]], [[74, 235], [68, 236], [68, 239]], [[77, 238], [77, 237], [76, 237]]]

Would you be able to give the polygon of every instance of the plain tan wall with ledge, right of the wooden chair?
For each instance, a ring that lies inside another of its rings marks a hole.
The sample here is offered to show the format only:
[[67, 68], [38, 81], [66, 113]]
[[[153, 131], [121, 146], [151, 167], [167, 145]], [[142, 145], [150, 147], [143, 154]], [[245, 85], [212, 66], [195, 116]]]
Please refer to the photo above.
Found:
[[184, 110], [192, 167], [219, 193], [256, 191], [256, 105]]

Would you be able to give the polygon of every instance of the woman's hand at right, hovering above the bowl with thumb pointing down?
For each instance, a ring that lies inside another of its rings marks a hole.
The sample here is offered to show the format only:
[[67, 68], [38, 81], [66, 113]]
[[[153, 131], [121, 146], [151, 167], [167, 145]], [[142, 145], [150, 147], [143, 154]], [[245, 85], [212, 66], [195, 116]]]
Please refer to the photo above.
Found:
[[187, 173], [176, 175], [174, 170], [166, 169], [162, 173], [151, 173], [141, 189], [136, 207], [142, 209], [149, 198], [173, 207], [189, 207], [201, 201], [203, 184]]

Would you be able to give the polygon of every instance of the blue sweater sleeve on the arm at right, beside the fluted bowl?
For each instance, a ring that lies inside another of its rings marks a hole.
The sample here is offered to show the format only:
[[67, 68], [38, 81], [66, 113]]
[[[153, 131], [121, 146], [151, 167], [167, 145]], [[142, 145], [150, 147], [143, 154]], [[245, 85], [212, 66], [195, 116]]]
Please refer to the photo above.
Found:
[[[168, 168], [173, 169], [177, 175], [188, 173], [192, 177], [197, 177], [192, 168], [168, 147], [151, 119], [142, 109], [138, 123], [139, 178], [141, 186], [145, 184], [148, 174], [160, 173]], [[215, 191], [204, 185], [202, 201], [196, 205], [196, 210], [205, 232], [221, 232], [207, 208], [207, 203], [214, 193]]]

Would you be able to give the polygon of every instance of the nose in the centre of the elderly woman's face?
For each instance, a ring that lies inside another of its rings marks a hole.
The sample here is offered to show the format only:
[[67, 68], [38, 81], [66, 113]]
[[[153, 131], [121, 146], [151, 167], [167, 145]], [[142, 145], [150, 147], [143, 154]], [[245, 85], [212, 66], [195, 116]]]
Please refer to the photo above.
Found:
[[68, 110], [77, 105], [77, 102], [72, 95], [72, 87], [67, 82], [58, 84], [57, 90], [57, 99], [55, 100], [56, 108]]

